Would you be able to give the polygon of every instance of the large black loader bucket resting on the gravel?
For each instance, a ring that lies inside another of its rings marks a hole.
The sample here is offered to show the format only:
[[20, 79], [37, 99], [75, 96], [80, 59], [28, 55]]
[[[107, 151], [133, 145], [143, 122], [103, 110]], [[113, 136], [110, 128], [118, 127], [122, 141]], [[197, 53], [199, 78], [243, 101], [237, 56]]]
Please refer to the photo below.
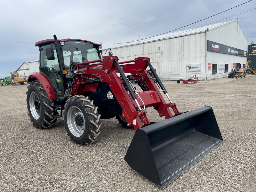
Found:
[[204, 106], [137, 129], [124, 160], [165, 188], [223, 142], [212, 108]]

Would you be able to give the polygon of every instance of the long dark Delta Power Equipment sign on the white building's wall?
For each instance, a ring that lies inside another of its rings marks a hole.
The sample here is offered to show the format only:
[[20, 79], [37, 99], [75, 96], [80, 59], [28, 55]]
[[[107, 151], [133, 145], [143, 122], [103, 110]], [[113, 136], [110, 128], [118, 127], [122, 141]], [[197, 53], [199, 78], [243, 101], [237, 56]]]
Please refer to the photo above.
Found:
[[207, 40], [207, 51], [247, 57], [247, 51]]

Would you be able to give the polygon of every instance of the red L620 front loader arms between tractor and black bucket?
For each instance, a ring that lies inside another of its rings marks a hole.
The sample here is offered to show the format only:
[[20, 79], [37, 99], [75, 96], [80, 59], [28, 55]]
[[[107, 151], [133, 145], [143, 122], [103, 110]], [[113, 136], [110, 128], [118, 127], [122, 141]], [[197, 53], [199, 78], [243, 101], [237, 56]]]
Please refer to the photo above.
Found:
[[[95, 62], [101, 62], [101, 64], [93, 64]], [[150, 66], [151, 70], [153, 68], [149, 62], [149, 58], [141, 57], [131, 61], [127, 61], [127, 63], [130, 62], [134, 62], [135, 64], [126, 64], [120, 66], [120, 64], [118, 63], [118, 57], [104, 56], [101, 58], [101, 60], [88, 61], [78, 64], [73, 63], [72, 68], [75, 72], [77, 79], [77, 84], [73, 87], [73, 94], [82, 94], [82, 92], [86, 91], [84, 89], [84, 86], [81, 86], [83, 84], [97, 82], [108, 83], [109, 89], [114, 94], [120, 106], [123, 108], [122, 117], [124, 117], [128, 125], [133, 126], [135, 130], [141, 128], [142, 126], [145, 126], [146, 124], [150, 124], [146, 115], [147, 112], [143, 110], [144, 106], [154, 107], [158, 111], [159, 116], [165, 116], [166, 119], [169, 119], [173, 116], [169, 107], [173, 108], [175, 114], [179, 113], [175, 103], [165, 102], [155, 82], [148, 74], [148, 71], [146, 70], [148, 65]], [[122, 64], [124, 64], [124, 62], [122, 62]], [[153, 69], [153, 71], [155, 70]], [[117, 73], [120, 73], [120, 77], [117, 75]], [[144, 79], [145, 81], [143, 81], [143, 84], [147, 85], [146, 87], [148, 88], [146, 88], [144, 92], [139, 92], [137, 95], [135, 95], [129, 80], [124, 73], [131, 73], [132, 75], [134, 75], [133, 77], [135, 79]], [[86, 74], [95, 74], [98, 75], [100, 78], [83, 79], [81, 75]], [[129, 94], [126, 92], [123, 83], [128, 88]], [[165, 90], [160, 80], [159, 84], [161, 88]], [[164, 93], [167, 94], [167, 91], [165, 90]]]

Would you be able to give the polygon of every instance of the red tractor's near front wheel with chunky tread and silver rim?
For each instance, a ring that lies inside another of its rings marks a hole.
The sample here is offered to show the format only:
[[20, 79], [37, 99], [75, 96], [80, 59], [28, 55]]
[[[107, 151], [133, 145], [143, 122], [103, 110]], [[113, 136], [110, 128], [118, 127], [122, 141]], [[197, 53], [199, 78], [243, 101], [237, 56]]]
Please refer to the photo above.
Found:
[[65, 129], [76, 144], [92, 144], [100, 134], [100, 115], [93, 100], [75, 95], [64, 106]]

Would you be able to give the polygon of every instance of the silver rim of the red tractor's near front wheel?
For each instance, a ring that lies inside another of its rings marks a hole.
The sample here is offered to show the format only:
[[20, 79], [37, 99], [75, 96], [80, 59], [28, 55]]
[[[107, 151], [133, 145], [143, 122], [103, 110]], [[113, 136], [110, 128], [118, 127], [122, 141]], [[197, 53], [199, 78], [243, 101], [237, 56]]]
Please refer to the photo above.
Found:
[[[81, 116], [84, 123], [82, 126], [78, 126], [76, 124], [76, 116]], [[68, 114], [67, 114], [67, 123], [68, 123], [68, 128], [69, 131], [75, 136], [75, 137], [80, 137], [83, 135], [84, 133], [84, 129], [85, 129], [85, 120], [84, 120], [84, 115], [81, 112], [81, 110], [76, 107], [73, 106], [71, 108], [68, 109]]]

